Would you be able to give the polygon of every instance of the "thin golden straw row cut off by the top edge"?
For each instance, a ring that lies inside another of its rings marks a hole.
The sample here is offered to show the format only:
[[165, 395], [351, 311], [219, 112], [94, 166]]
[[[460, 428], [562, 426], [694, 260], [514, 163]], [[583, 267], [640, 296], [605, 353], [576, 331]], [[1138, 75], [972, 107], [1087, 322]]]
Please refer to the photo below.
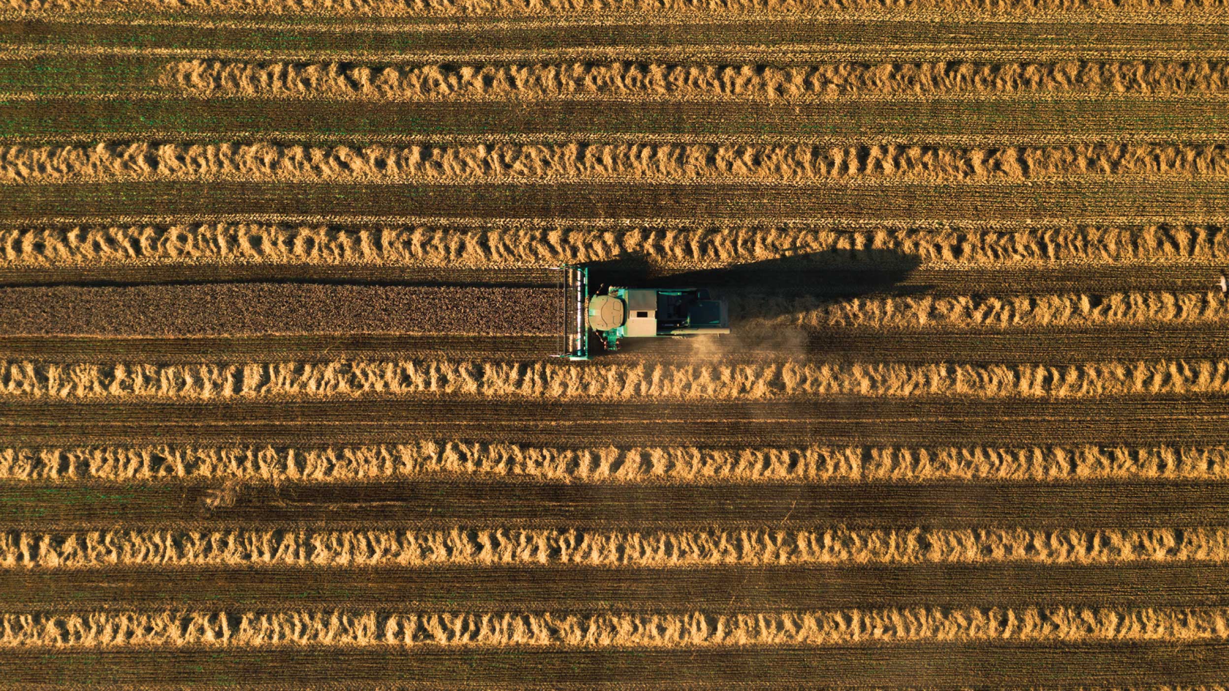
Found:
[[[1188, 22], [1220, 18], [1225, 0], [2, 0], [0, 10], [55, 16], [65, 12], [175, 12], [200, 15], [317, 15], [326, 17], [414, 16], [552, 16], [552, 15], [784, 15], [989, 12], [1040, 15], [1053, 12], [1192, 15]], [[1206, 16], [1211, 15], [1211, 16]], [[1122, 17], [1128, 18], [1128, 17]], [[1179, 17], [1184, 18], [1184, 17]]]

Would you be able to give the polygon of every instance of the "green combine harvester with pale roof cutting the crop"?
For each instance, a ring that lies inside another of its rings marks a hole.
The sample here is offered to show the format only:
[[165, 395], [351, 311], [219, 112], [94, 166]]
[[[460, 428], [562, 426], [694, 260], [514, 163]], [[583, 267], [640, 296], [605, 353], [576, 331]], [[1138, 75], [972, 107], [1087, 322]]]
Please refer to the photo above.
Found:
[[729, 306], [697, 288], [610, 288], [589, 293], [587, 267], [564, 272], [564, 337], [559, 357], [587, 360], [592, 330], [606, 350], [618, 350], [622, 338], [689, 338], [730, 333]]

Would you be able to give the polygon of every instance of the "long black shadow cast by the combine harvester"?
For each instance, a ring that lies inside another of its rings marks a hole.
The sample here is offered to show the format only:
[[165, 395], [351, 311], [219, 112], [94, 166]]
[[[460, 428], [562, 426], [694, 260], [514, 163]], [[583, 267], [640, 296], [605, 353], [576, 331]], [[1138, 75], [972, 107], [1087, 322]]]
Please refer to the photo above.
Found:
[[[739, 322], [745, 320], [775, 320], [815, 309], [870, 295], [897, 296], [924, 293], [929, 285], [912, 275], [921, 264], [913, 255], [891, 250], [859, 250], [857, 252], [800, 252], [772, 259], [734, 264], [730, 267], [662, 272], [643, 255], [624, 255], [607, 262], [587, 264], [590, 285], [597, 290], [617, 285], [626, 288], [708, 288], [715, 295], [730, 299], [732, 338], [728, 344], [755, 348], [744, 342]], [[753, 305], [755, 314], [739, 314], [739, 307]], [[826, 350], [832, 343], [819, 334], [795, 336], [805, 350]], [[666, 343], [662, 343], [666, 341]], [[671, 346], [670, 341], [675, 344]], [[732, 342], [732, 343], [731, 343]], [[773, 344], [766, 343], [772, 348]], [[628, 352], [677, 349], [675, 339], [628, 339]], [[793, 348], [790, 348], [793, 349]], [[600, 350], [599, 350], [600, 353]]]

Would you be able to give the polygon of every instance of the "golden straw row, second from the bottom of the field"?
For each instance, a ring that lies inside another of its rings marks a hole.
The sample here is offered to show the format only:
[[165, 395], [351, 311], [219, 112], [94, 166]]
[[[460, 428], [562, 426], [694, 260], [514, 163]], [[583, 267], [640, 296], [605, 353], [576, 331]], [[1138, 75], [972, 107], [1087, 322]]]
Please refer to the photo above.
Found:
[[1229, 529], [106, 530], [0, 534], [0, 568], [1229, 563]]

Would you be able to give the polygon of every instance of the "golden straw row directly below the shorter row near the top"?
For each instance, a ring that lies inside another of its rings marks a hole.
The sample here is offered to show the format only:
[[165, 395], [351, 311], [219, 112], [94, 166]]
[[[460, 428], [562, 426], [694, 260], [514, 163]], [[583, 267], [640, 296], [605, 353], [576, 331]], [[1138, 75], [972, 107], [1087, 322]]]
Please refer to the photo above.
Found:
[[1050, 146], [815, 144], [428, 144], [161, 141], [0, 146], [0, 183], [119, 181], [1013, 182], [1229, 175], [1227, 144]]

